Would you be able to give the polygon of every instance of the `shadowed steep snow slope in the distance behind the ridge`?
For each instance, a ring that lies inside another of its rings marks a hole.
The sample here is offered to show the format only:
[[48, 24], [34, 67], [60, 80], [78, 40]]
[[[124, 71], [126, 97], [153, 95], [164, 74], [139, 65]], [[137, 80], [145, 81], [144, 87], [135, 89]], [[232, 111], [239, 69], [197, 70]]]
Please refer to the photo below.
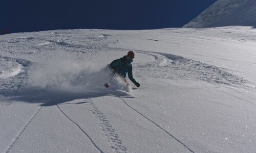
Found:
[[231, 25], [256, 27], [255, 0], [218, 0], [183, 28], [211, 28]]

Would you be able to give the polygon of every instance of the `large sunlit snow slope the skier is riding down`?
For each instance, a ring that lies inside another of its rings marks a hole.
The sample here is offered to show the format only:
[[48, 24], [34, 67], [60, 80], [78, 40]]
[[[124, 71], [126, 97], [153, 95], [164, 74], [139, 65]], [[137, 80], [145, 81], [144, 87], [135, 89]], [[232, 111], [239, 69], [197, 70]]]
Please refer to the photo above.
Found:
[[[0, 152], [255, 152], [256, 30], [0, 36]], [[106, 65], [134, 50], [135, 88]]]

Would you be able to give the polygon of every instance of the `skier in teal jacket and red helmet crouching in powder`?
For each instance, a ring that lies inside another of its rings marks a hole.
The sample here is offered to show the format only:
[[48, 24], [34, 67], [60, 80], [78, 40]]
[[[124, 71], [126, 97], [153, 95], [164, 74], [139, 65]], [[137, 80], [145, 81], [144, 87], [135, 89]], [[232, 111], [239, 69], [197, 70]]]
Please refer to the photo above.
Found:
[[136, 80], [133, 78], [133, 65], [132, 65], [133, 59], [134, 59], [134, 52], [129, 51], [127, 55], [111, 62], [110, 68], [112, 68], [113, 70], [117, 70], [117, 73], [123, 78], [126, 85], [129, 85], [129, 83], [125, 80], [126, 73], [128, 73], [128, 78], [137, 87], [140, 87], [140, 84], [136, 82]]

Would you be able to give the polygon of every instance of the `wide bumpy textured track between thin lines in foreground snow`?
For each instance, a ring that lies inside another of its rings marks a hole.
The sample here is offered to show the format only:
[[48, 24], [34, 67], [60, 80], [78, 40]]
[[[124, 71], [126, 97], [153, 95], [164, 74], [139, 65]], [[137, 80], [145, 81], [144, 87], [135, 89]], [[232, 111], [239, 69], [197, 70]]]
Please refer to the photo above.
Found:
[[90, 109], [90, 111], [97, 118], [101, 130], [108, 139], [108, 142], [111, 145], [111, 149], [113, 152], [126, 152], [126, 147], [122, 145], [122, 140], [118, 138], [119, 136], [115, 134], [115, 130], [113, 129], [111, 123], [106, 119], [104, 114], [100, 112], [100, 110], [96, 107], [91, 99], [84, 99]]

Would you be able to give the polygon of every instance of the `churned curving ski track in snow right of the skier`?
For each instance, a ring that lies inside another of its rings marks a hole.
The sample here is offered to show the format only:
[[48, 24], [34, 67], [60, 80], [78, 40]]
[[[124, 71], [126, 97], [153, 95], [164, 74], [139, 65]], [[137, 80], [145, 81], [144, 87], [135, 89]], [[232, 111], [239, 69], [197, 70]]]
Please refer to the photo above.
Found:
[[[224, 85], [245, 85], [248, 81], [237, 75], [233, 75], [227, 70], [217, 66], [205, 64], [199, 61], [186, 59], [172, 54], [146, 52], [137, 50], [138, 53], [151, 55], [155, 60], [148, 63], [139, 63], [136, 65], [138, 71], [142, 71], [143, 76], [163, 79], [184, 79], [184, 80], [202, 80], [211, 84]], [[156, 71], [156, 75], [151, 75], [147, 71]], [[172, 74], [172, 75], [169, 75]]]

